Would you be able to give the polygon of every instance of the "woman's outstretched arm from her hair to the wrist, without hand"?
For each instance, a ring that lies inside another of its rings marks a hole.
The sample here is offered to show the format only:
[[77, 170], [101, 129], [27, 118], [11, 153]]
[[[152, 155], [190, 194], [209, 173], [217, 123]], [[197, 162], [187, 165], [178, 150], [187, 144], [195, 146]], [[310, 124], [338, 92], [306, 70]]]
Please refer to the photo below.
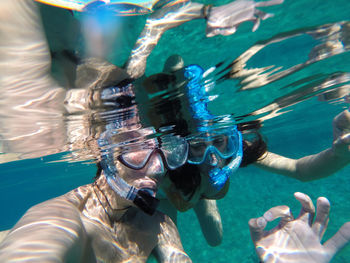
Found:
[[267, 171], [285, 175], [300, 181], [311, 181], [327, 177], [342, 169], [349, 159], [334, 154], [328, 148], [318, 154], [291, 159], [278, 154], [267, 152], [255, 165]]

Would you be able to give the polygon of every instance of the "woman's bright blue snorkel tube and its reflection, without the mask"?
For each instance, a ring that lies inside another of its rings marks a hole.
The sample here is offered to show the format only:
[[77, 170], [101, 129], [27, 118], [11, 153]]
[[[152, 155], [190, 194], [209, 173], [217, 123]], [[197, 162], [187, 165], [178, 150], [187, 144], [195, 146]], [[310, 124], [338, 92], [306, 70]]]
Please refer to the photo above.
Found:
[[[189, 65], [185, 68], [184, 76], [188, 80], [187, 83], [187, 95], [190, 102], [190, 108], [192, 116], [200, 121], [207, 121], [213, 119], [208, 110], [208, 95], [205, 90], [205, 86], [202, 83], [204, 70], [198, 65]], [[230, 127], [231, 128], [231, 127]], [[200, 132], [210, 133], [210, 129], [207, 125], [201, 125], [198, 127]], [[216, 190], [221, 190], [229, 177], [238, 169], [243, 156], [242, 149], [242, 134], [237, 130], [237, 126], [232, 126], [232, 135], [237, 138], [238, 150], [235, 156], [232, 156], [232, 160], [223, 168], [215, 167], [209, 172], [209, 181]]]

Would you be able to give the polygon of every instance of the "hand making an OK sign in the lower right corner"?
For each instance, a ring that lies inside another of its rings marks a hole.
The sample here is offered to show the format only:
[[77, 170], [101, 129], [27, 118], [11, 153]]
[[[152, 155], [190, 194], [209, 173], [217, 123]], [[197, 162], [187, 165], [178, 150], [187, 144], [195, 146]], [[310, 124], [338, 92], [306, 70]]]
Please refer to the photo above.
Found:
[[[256, 251], [262, 262], [278, 263], [326, 263], [350, 240], [350, 222], [323, 245], [321, 239], [327, 229], [330, 210], [329, 201], [317, 199], [317, 216], [309, 196], [295, 193], [302, 205], [299, 216], [294, 219], [288, 206], [276, 206], [262, 217], [249, 220], [249, 228]], [[281, 217], [275, 228], [265, 231], [267, 222]]]

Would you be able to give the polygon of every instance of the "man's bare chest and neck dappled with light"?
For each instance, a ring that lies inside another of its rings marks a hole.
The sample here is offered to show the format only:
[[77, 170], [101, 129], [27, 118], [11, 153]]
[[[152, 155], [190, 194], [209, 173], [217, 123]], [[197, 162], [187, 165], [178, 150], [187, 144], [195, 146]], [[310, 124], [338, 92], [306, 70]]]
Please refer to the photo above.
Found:
[[80, 210], [97, 262], [146, 262], [158, 244], [165, 216], [159, 212], [149, 216], [131, 207], [120, 218], [109, 217], [114, 202], [106, 203], [103, 189], [99, 189], [90, 184], [64, 196]]

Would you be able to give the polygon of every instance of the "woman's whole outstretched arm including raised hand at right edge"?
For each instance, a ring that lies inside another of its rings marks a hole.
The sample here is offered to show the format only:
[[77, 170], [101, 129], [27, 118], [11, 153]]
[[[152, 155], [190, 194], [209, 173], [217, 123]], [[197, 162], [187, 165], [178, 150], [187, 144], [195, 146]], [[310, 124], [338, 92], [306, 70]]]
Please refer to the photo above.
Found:
[[310, 181], [327, 177], [345, 167], [350, 162], [350, 112], [343, 111], [333, 120], [334, 142], [318, 154], [291, 159], [267, 152], [255, 164], [273, 173]]

